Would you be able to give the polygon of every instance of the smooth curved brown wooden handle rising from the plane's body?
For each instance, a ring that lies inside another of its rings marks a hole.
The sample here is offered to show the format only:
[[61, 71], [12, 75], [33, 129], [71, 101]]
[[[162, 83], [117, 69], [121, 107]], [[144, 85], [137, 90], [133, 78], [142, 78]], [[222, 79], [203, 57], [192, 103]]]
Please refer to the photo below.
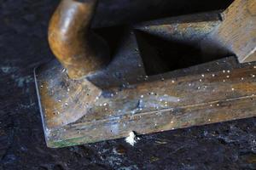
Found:
[[90, 31], [97, 0], [62, 0], [49, 23], [49, 46], [72, 79], [108, 64], [108, 46]]

